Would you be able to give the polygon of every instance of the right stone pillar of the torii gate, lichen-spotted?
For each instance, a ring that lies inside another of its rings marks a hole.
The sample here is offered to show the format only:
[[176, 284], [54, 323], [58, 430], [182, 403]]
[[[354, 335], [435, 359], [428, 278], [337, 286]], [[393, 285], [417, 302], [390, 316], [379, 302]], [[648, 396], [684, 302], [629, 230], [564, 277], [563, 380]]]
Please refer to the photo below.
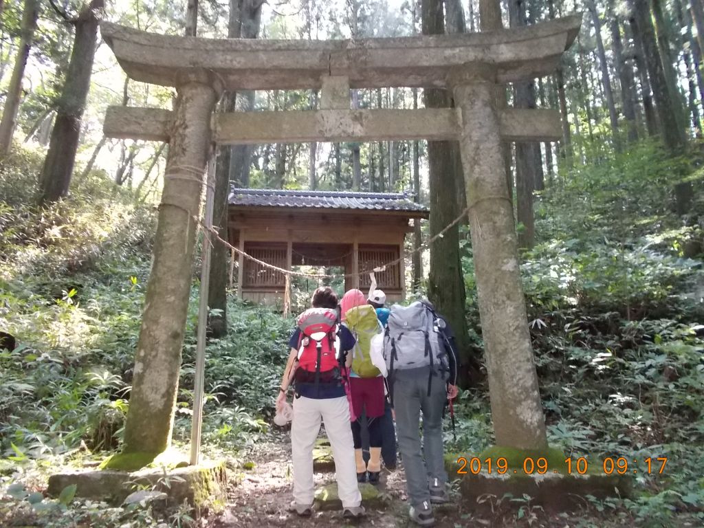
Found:
[[473, 63], [448, 81], [462, 114], [460, 149], [496, 445], [541, 449], [547, 446], [545, 417], [526, 324], [495, 79], [493, 65]]

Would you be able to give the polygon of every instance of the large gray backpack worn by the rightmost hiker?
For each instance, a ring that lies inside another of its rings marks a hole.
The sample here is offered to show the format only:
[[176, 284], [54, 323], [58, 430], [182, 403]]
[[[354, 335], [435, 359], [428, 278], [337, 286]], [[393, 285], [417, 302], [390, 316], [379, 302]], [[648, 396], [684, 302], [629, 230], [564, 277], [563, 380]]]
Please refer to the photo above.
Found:
[[393, 377], [394, 370], [429, 366], [428, 395], [432, 377], [450, 372], [443, 332], [444, 320], [425, 303], [391, 306], [384, 336], [384, 360]]

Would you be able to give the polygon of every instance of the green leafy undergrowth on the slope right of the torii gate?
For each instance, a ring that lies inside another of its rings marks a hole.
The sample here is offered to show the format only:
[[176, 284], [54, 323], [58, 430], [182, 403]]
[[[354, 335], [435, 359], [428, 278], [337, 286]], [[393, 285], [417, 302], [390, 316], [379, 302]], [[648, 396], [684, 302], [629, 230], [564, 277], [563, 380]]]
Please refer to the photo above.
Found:
[[[634, 479], [629, 497], [586, 497], [617, 525], [704, 520], [704, 203], [671, 212], [665, 159], [644, 143], [553, 182], [522, 265], [548, 440], [586, 456], [590, 471]], [[480, 351], [471, 260], [463, 265]], [[463, 398], [453, 444], [480, 453], [492, 441], [486, 392]]]

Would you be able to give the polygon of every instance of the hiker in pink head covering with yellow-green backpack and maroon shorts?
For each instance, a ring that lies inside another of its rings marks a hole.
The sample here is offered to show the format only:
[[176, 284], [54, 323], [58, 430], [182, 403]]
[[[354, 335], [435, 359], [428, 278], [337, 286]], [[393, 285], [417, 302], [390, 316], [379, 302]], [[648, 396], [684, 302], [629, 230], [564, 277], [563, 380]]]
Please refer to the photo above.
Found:
[[[355, 448], [358, 482], [367, 479], [371, 484], [379, 483], [382, 455], [382, 419], [384, 417], [384, 377], [374, 364], [372, 343], [377, 346], [378, 361], [382, 362], [382, 327], [373, 306], [358, 289], [344, 294], [340, 302], [343, 325], [355, 336], [356, 346], [352, 351], [349, 374], [351, 392], [351, 428]], [[379, 365], [384, 367], [383, 364]], [[363, 417], [365, 415], [365, 417]], [[362, 420], [366, 420], [369, 431], [370, 457], [365, 463], [362, 451]]]

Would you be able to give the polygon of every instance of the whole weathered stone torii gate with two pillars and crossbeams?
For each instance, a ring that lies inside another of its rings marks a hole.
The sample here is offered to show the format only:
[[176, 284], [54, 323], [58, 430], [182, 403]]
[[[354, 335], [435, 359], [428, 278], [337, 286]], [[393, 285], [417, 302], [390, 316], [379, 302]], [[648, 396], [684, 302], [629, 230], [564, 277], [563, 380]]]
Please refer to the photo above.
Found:
[[[175, 87], [173, 111], [108, 108], [107, 137], [169, 142], [135, 356], [125, 454], [170, 442], [206, 162], [215, 144], [453, 139], [470, 210], [491, 412], [501, 446], [546, 446], [502, 141], [561, 137], [557, 111], [499, 110], [496, 86], [552, 73], [581, 15], [495, 32], [355, 41], [169, 37], [102, 23], [135, 81]], [[456, 108], [352, 110], [350, 89], [451, 89]], [[321, 89], [313, 111], [213, 113], [223, 90]], [[149, 460], [147, 460], [149, 461]]]

